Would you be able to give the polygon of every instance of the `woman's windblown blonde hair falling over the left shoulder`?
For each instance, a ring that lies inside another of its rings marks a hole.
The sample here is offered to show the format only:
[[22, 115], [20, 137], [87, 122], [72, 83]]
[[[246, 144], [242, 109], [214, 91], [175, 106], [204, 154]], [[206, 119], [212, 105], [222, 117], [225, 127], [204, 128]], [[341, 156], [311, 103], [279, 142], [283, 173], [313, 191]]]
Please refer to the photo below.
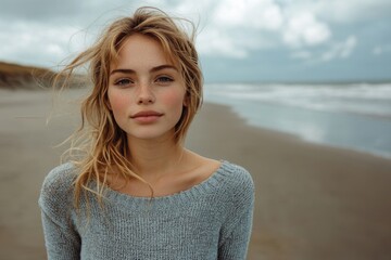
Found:
[[[184, 20], [180, 20], [184, 21]], [[186, 21], [186, 20], [185, 20]], [[108, 174], [117, 174], [129, 180], [134, 177], [143, 181], [129, 162], [126, 133], [117, 126], [109, 106], [108, 89], [111, 65], [118, 60], [118, 52], [127, 37], [141, 34], [157, 40], [168, 58], [178, 64], [186, 86], [186, 106], [175, 126], [175, 142], [181, 143], [189, 126], [202, 104], [202, 73], [194, 49], [194, 26], [189, 36], [177, 20], [154, 8], [140, 8], [131, 17], [113, 22], [97, 42], [76, 56], [60, 74], [70, 79], [75, 69], [89, 66], [92, 90], [81, 103], [81, 123], [70, 138], [68, 155], [78, 168], [75, 180], [74, 202], [78, 208], [81, 195], [96, 195], [101, 203]], [[70, 80], [62, 82], [62, 89]], [[75, 156], [77, 155], [77, 156]], [[94, 183], [92, 186], [90, 183]], [[149, 185], [149, 184], [148, 184]], [[149, 185], [150, 186], [150, 185]], [[151, 197], [153, 190], [151, 188]]]

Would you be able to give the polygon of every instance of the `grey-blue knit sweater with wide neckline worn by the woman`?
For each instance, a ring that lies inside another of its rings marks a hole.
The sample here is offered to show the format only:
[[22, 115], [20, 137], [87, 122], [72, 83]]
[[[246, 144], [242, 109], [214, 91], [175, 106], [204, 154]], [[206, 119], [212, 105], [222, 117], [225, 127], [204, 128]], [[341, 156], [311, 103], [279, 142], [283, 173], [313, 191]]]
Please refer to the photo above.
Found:
[[108, 187], [103, 207], [90, 197], [80, 212], [73, 208], [76, 174], [64, 164], [42, 185], [49, 259], [245, 259], [254, 185], [243, 168], [224, 161], [200, 184], [152, 200]]

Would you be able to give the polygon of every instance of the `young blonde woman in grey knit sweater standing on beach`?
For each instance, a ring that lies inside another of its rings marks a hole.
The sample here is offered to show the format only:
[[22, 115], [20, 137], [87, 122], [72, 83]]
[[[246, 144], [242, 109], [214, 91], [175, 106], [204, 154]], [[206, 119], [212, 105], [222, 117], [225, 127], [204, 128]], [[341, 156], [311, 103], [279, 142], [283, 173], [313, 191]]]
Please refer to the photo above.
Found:
[[192, 37], [141, 8], [63, 73], [86, 63], [93, 88], [73, 147], [84, 153], [39, 198], [49, 259], [245, 259], [251, 176], [182, 145], [202, 101]]

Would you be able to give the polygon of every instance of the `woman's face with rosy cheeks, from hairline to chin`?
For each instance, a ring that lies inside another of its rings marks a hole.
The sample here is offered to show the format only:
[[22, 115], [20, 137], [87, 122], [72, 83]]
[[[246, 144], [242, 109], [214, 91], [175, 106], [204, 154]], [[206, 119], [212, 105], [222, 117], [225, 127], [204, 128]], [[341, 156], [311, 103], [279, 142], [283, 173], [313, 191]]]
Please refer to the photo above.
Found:
[[173, 136], [185, 93], [179, 68], [156, 40], [136, 34], [124, 41], [118, 62], [111, 65], [108, 95], [128, 140]]

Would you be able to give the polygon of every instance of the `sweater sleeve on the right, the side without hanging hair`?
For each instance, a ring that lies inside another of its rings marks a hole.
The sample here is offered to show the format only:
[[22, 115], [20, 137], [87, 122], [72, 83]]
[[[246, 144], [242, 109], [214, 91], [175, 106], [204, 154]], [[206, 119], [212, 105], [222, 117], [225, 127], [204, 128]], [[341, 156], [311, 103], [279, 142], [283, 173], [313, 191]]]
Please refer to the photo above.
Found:
[[248, 171], [238, 168], [235, 186], [231, 186], [231, 208], [220, 230], [218, 259], [244, 260], [251, 236], [254, 184]]

